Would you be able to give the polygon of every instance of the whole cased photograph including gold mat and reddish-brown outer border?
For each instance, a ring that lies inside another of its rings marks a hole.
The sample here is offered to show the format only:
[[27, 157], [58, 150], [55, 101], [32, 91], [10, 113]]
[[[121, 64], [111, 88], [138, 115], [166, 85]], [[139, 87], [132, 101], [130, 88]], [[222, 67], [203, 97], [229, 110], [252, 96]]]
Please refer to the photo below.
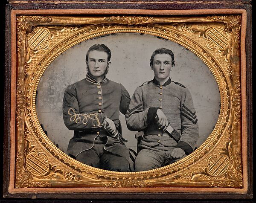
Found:
[[248, 191], [246, 12], [60, 12], [12, 9], [6, 192]]

